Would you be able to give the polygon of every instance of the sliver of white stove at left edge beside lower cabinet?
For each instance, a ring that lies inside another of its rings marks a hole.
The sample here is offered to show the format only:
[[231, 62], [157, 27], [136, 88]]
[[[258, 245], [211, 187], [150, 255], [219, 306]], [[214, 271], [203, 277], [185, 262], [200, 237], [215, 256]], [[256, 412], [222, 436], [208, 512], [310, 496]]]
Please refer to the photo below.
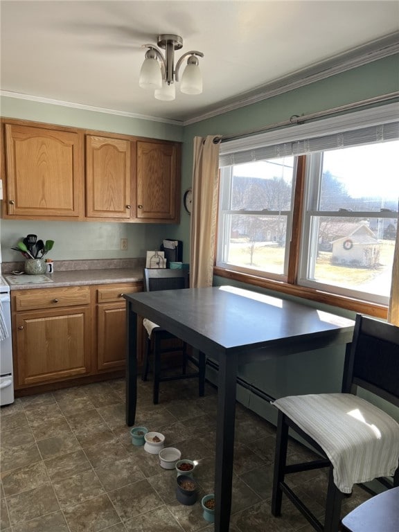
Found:
[[14, 402], [10, 285], [0, 276], [0, 406]]

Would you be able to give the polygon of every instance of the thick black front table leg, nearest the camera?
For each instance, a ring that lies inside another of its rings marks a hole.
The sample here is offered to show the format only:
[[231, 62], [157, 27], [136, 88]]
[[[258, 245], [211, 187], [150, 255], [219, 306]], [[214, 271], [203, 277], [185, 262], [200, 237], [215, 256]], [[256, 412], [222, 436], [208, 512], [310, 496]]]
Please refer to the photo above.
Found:
[[215, 532], [228, 532], [233, 481], [237, 356], [219, 358], [215, 456]]

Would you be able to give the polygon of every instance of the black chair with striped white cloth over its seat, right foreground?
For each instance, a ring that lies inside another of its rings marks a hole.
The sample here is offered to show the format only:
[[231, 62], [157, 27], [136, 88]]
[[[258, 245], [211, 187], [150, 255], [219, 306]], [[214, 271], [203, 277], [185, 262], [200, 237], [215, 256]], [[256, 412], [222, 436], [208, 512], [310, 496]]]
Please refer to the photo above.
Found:
[[[399, 486], [399, 424], [355, 395], [357, 387], [399, 407], [399, 327], [357, 314], [342, 393], [291, 396], [273, 402], [278, 408], [273, 515], [281, 515], [285, 493], [315, 530], [337, 532], [342, 499], [351, 493], [353, 484], [378, 479], [386, 488]], [[310, 443], [321, 459], [287, 465], [289, 429]], [[330, 470], [321, 524], [287, 485], [285, 476], [326, 467]]]

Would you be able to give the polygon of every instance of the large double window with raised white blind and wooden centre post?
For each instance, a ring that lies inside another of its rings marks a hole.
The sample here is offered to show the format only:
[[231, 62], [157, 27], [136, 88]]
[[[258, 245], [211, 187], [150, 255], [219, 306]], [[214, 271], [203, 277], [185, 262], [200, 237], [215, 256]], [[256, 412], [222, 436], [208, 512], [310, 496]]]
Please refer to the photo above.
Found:
[[215, 273], [387, 305], [398, 153], [391, 105], [222, 144]]

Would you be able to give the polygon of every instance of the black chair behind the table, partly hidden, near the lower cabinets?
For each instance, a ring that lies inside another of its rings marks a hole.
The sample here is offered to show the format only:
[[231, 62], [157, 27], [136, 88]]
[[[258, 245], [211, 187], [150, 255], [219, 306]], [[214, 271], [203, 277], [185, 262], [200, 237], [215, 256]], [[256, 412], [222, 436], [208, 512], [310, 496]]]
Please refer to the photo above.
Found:
[[[154, 290], [177, 290], [180, 288], [188, 288], [188, 272], [185, 269], [144, 269], [144, 288], [146, 292]], [[162, 329], [149, 319], [143, 319], [143, 326], [147, 333], [147, 346], [143, 360], [143, 372], [141, 379], [147, 380], [148, 371], [150, 369], [150, 357], [152, 355], [153, 369], [154, 369], [154, 388], [152, 398], [154, 405], [159, 402], [159, 383], [168, 380], [180, 380], [187, 378], [198, 378], [199, 396], [204, 396], [205, 387], [205, 363], [206, 357], [204, 353], [199, 352], [198, 359], [188, 353], [185, 342], [175, 342], [178, 345], [171, 346], [170, 342], [165, 341], [177, 340], [177, 337], [172, 335], [167, 330]], [[161, 357], [164, 353], [181, 353], [181, 373], [173, 375], [162, 375], [161, 373]], [[198, 367], [198, 371], [187, 371], [187, 362], [190, 361]]]

